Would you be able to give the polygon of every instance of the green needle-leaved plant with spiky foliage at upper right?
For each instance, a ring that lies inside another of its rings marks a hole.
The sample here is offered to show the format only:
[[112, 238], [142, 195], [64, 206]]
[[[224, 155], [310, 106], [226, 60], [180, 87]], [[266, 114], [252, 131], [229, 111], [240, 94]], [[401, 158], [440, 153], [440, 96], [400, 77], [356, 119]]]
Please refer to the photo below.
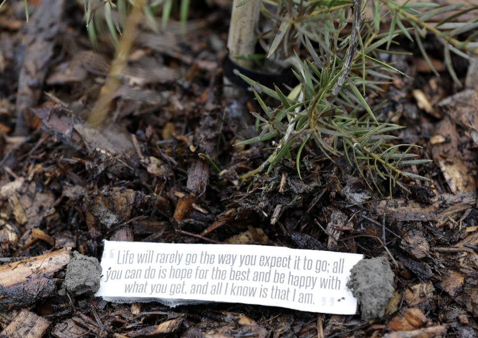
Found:
[[[247, 2], [242, 1], [242, 5], [248, 5]], [[453, 30], [440, 28], [477, 7], [456, 12], [460, 5], [440, 7], [435, 3], [399, 4], [392, 0], [371, 0], [373, 18], [362, 21], [361, 0], [262, 2], [268, 4], [267, 7], [262, 6], [262, 14], [275, 19], [279, 27], [269, 45], [268, 55], [274, 54], [281, 45], [286, 50], [292, 41], [300, 44], [308, 57], [301, 59], [296, 54], [294, 74], [300, 84], [291, 89], [288, 95], [277, 87], [266, 88], [239, 74], [252, 86], [264, 114], [252, 113], [260, 121], [259, 136], [238, 144], [280, 138], [274, 143], [275, 148], [267, 160], [240, 178], [248, 179], [266, 168], [269, 173], [284, 157], [292, 158], [293, 148], [297, 149], [296, 165], [301, 175], [302, 150], [309, 139], [314, 139], [331, 159], [332, 156], [345, 154], [367, 185], [370, 188], [374, 186], [379, 192], [378, 179], [388, 180], [390, 189], [394, 185], [406, 189], [398, 180], [399, 177], [428, 180], [406, 171], [406, 167], [429, 160], [417, 159], [417, 155], [411, 152], [415, 147], [413, 145], [392, 142], [395, 137], [387, 132], [401, 126], [387, 121], [379, 122], [368, 106], [365, 95], [382, 91], [379, 85], [389, 82], [391, 73], [405, 75], [377, 57], [379, 52], [393, 53], [389, 47], [400, 34], [417, 43], [433, 70], [422, 39], [427, 32], [435, 34], [444, 45], [448, 70], [459, 83], [450, 61], [450, 52], [468, 59], [473, 57], [468, 42], [476, 37], [476, 32], [465, 41], [457, 40], [456, 36], [476, 28], [478, 18]], [[269, 9], [271, 5], [276, 9], [275, 12]], [[418, 8], [425, 10], [419, 11]], [[441, 13], [449, 13], [449, 16], [436, 25], [427, 22]], [[381, 31], [382, 19], [387, 15], [392, 16], [390, 28]], [[402, 20], [408, 22], [410, 27], [405, 27]], [[385, 49], [382, 46], [386, 46]], [[270, 109], [260, 93], [279, 100], [281, 106]]]

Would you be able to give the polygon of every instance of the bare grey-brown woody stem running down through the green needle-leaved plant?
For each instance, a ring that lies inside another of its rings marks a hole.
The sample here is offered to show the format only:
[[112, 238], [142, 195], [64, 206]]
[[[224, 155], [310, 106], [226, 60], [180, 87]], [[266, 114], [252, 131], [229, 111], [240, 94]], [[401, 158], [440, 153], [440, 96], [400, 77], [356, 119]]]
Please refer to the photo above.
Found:
[[345, 80], [349, 77], [350, 69], [352, 67], [352, 62], [354, 61], [355, 53], [357, 52], [357, 45], [359, 43], [359, 31], [360, 31], [360, 22], [362, 20], [362, 0], [354, 0], [354, 7], [352, 11], [354, 12], [354, 19], [352, 21], [352, 33], [350, 36], [349, 48], [347, 48], [347, 54], [345, 56], [344, 64], [342, 65], [342, 74], [337, 79], [337, 82], [334, 85], [332, 90], [332, 96], [335, 98], [339, 94], [342, 86], [345, 83]]

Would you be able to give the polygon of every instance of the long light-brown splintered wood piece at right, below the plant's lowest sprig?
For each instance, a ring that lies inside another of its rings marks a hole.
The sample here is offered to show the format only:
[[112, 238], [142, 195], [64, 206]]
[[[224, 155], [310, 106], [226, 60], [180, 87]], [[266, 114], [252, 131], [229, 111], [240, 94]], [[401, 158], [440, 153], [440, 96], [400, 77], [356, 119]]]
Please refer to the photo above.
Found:
[[407, 201], [405, 199], [394, 199], [391, 201], [380, 201], [377, 205], [380, 213], [386, 212], [398, 222], [411, 221], [438, 221], [437, 226], [445, 225], [449, 218], [453, 219], [472, 208], [477, 202], [476, 197], [471, 193], [442, 194], [431, 200], [431, 204], [423, 206], [421, 203]]

